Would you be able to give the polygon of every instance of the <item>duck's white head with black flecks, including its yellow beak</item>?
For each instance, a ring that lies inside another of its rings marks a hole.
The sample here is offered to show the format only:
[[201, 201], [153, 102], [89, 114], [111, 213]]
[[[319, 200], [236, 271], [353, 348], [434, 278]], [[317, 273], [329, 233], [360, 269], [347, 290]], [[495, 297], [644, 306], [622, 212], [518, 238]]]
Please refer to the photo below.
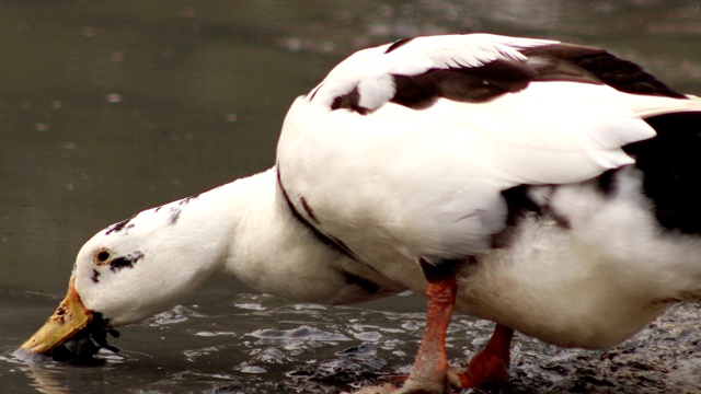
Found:
[[105, 333], [168, 310], [192, 292], [221, 267], [230, 234], [198, 205], [206, 202], [171, 202], [96, 233], [78, 253], [66, 298], [21, 349], [50, 355], [61, 344], [92, 339], [97, 347], [84, 351], [114, 350]]

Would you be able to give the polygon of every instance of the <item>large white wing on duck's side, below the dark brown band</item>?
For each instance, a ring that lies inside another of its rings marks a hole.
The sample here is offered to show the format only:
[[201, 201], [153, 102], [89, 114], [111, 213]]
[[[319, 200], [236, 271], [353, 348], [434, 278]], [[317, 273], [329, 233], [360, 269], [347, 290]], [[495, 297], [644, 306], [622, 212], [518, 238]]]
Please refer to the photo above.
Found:
[[468, 255], [502, 229], [502, 190], [575, 183], [633, 162], [620, 147], [654, 130], [619, 95], [542, 82], [489, 103], [390, 103], [369, 115], [300, 99], [278, 158], [283, 174], [294, 174], [291, 190], [350, 245], [367, 245], [369, 217], [372, 236], [404, 239], [414, 257]]

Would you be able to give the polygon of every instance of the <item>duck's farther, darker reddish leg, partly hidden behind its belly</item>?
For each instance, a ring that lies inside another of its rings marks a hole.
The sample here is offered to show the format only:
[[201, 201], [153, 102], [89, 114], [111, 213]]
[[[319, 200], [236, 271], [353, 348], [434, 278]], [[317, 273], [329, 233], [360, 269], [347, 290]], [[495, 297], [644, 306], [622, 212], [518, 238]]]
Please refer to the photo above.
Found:
[[501, 324], [494, 327], [489, 344], [470, 360], [468, 369], [460, 373], [462, 389], [508, 380], [513, 337], [513, 328]]

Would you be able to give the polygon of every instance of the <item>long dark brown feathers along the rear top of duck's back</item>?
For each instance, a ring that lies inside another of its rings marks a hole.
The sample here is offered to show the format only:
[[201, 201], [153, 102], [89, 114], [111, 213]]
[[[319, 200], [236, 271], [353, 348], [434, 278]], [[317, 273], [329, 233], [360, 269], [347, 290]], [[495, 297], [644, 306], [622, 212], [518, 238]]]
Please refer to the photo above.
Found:
[[604, 49], [554, 44], [521, 53], [529, 57], [527, 63], [538, 71], [537, 80], [606, 83], [627, 93], [685, 97], [636, 63]]

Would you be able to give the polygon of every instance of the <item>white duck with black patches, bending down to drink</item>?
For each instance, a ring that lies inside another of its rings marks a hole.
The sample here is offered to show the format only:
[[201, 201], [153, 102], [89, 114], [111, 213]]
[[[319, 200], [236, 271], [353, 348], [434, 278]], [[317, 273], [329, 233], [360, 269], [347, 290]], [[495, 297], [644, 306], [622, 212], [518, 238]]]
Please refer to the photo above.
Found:
[[[514, 329], [587, 349], [701, 297], [701, 101], [605, 50], [486, 34], [350, 56], [285, 120], [277, 165], [100, 231], [22, 348], [146, 318], [207, 277], [349, 303], [426, 294], [410, 376], [508, 376]], [[495, 334], [457, 373], [453, 306]]]

